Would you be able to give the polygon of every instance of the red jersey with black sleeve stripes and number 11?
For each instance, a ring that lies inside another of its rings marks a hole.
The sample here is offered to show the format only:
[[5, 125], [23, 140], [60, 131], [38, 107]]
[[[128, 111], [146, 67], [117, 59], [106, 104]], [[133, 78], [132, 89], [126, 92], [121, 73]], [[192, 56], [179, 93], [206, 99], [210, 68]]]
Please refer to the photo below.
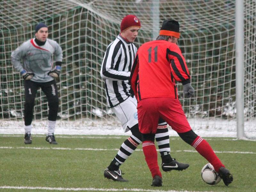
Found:
[[190, 83], [188, 67], [178, 45], [165, 40], [142, 44], [131, 71], [131, 86], [137, 100], [178, 99], [175, 81]]

